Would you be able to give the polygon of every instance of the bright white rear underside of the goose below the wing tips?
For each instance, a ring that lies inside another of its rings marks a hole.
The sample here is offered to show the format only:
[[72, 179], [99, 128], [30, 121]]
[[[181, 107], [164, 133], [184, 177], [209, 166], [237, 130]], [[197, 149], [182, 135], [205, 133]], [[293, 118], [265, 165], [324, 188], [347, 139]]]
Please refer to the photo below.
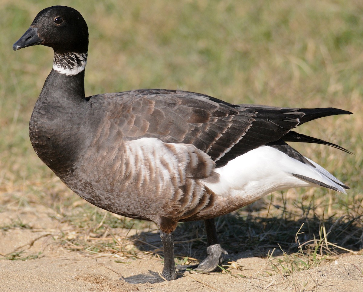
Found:
[[295, 187], [318, 187], [294, 177], [299, 174], [333, 186], [345, 192], [337, 178], [312, 162], [317, 168], [304, 164], [270, 146], [261, 146], [229, 161], [227, 165], [215, 169], [218, 182], [204, 184], [221, 196], [241, 196], [246, 200], [257, 200], [273, 191]]

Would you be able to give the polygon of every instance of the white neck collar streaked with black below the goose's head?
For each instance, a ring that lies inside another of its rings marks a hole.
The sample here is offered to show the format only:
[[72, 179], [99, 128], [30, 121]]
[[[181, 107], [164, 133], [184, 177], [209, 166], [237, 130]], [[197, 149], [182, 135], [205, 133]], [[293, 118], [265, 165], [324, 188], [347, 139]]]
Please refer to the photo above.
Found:
[[87, 64], [87, 53], [54, 54], [53, 69], [66, 76], [77, 75]]

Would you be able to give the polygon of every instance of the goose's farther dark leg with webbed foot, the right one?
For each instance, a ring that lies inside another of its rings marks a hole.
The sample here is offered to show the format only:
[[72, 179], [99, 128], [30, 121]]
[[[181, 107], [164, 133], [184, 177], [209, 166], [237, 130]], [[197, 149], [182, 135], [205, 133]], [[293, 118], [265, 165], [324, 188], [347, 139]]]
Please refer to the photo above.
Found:
[[186, 270], [187, 268], [195, 268], [197, 271], [212, 272], [222, 262], [223, 254], [228, 254], [221, 245], [217, 237], [216, 226], [214, 219], [204, 220], [205, 231], [207, 233], [207, 254], [208, 256], [199, 263], [198, 266], [178, 265], [179, 270]]

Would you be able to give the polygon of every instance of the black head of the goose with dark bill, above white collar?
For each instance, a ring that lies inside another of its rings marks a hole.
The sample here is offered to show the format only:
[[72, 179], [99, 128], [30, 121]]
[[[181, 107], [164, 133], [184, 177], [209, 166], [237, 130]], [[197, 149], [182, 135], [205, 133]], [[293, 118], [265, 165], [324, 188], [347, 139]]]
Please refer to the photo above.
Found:
[[85, 53], [88, 50], [88, 27], [81, 13], [66, 6], [45, 8], [34, 18], [13, 50], [44, 45], [54, 52]]

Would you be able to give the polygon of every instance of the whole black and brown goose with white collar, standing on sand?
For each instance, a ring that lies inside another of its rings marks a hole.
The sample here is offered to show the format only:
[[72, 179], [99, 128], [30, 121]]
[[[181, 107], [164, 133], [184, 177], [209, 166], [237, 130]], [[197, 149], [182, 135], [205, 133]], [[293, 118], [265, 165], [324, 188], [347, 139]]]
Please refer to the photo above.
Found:
[[[310, 120], [351, 114], [334, 108], [234, 105], [200, 93], [139, 89], [85, 97], [88, 28], [70, 7], [38, 13], [14, 50], [54, 50], [29, 124], [40, 159], [88, 202], [119, 215], [154, 221], [164, 246], [163, 278], [176, 279], [174, 230], [179, 221], [204, 220], [208, 256], [197, 270], [213, 271], [227, 252], [213, 218], [272, 191], [344, 183], [286, 144]], [[156, 273], [126, 279], [160, 282]]]

